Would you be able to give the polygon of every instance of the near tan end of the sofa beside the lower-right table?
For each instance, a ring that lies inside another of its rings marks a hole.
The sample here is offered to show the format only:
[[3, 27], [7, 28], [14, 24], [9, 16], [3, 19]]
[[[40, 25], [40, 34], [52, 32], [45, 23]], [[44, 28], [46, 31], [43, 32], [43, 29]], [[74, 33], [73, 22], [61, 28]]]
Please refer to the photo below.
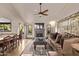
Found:
[[78, 43], [78, 42], [79, 42], [79, 38], [70, 38], [70, 39], [64, 40], [63, 49], [62, 49], [63, 54], [73, 55], [71, 44]]

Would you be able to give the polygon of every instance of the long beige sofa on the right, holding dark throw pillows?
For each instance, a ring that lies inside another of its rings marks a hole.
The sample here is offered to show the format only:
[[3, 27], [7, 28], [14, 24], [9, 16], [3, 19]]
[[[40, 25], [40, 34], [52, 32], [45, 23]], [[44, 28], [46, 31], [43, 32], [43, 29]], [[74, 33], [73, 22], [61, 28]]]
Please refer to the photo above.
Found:
[[53, 40], [50, 37], [48, 38], [48, 40], [49, 40], [49, 45], [52, 48], [56, 49], [58, 54], [65, 56], [73, 55], [71, 44], [79, 42], [79, 38], [77, 37], [66, 38], [64, 39], [63, 48], [61, 48], [61, 45], [56, 43], [56, 40]]

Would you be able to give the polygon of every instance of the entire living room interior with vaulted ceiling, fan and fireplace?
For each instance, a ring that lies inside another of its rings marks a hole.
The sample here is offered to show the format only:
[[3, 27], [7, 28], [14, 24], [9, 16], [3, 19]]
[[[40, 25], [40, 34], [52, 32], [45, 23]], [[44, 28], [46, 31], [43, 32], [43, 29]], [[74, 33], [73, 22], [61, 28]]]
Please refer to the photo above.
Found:
[[0, 4], [0, 56], [78, 56], [78, 3]]

